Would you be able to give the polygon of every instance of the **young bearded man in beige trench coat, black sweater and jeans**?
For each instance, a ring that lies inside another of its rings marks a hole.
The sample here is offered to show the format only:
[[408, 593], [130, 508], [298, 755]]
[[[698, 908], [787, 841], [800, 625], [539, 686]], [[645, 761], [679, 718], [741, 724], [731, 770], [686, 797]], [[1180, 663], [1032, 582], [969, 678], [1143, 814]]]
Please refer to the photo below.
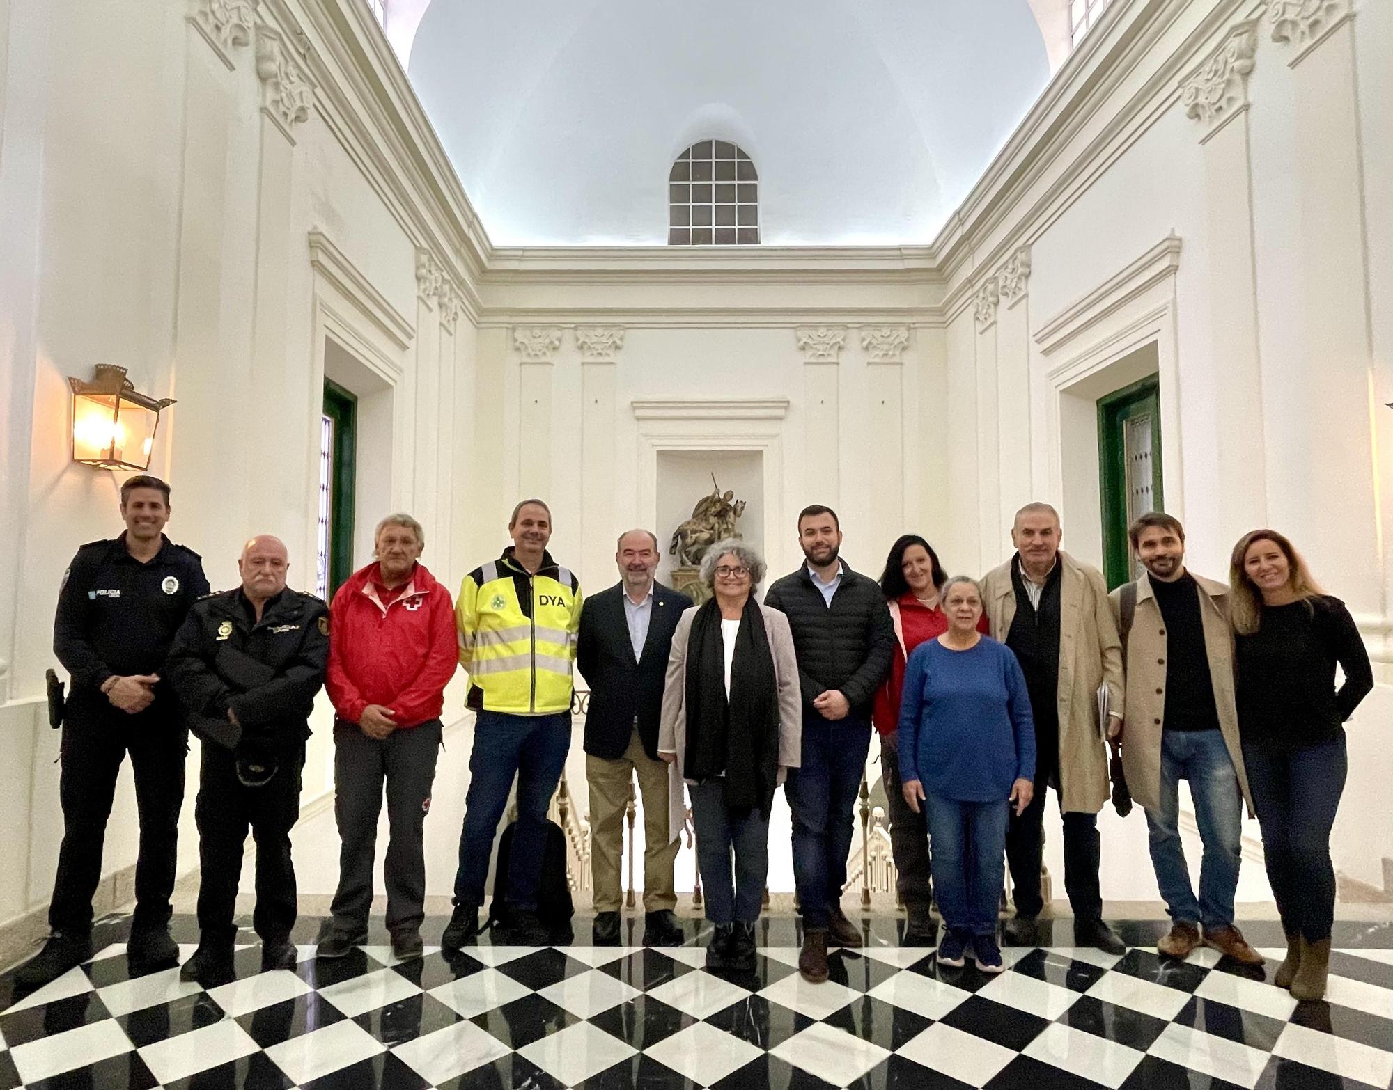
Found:
[[[1248, 780], [1234, 704], [1229, 587], [1185, 569], [1185, 530], [1174, 516], [1152, 511], [1128, 533], [1146, 571], [1109, 600], [1127, 667], [1123, 768], [1133, 799], [1146, 812], [1151, 862], [1172, 919], [1158, 949], [1187, 958], [1204, 926], [1205, 945], [1261, 965], [1262, 955], [1233, 926]], [[1181, 780], [1190, 781], [1204, 844], [1198, 898], [1177, 824]]]

